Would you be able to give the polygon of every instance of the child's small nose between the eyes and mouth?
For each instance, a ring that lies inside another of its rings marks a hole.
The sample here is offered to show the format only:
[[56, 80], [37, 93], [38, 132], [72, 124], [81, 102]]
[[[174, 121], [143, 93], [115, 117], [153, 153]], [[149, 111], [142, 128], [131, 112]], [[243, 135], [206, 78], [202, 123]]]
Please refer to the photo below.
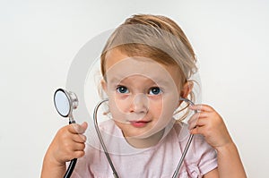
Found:
[[134, 95], [133, 102], [130, 106], [131, 113], [147, 113], [148, 112], [148, 98], [143, 94], [139, 93]]

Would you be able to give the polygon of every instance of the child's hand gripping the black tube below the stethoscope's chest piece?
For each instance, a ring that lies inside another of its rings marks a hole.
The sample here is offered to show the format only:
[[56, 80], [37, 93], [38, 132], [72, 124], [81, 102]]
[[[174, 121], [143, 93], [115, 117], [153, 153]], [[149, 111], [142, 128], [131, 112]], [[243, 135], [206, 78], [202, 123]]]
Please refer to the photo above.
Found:
[[54, 165], [65, 165], [65, 162], [85, 154], [86, 136], [83, 133], [87, 126], [87, 123], [73, 123], [57, 131], [47, 152], [47, 157]]

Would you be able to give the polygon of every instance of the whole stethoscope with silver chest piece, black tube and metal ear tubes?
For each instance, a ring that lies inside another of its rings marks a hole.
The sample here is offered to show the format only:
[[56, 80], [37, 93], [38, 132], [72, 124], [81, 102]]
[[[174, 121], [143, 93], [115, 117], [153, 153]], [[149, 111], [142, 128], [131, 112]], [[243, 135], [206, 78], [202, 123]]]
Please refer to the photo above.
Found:
[[[187, 102], [187, 104], [189, 104], [191, 106], [195, 105], [191, 100], [189, 100], [187, 98], [180, 97], [179, 100], [185, 101], [185, 102]], [[100, 134], [100, 129], [99, 129], [99, 126], [97, 123], [98, 109], [103, 103], [105, 103], [107, 101], [108, 101], [108, 99], [103, 99], [94, 107], [93, 121], [94, 121], [95, 130], [96, 130], [98, 137], [99, 137], [99, 140], [100, 140], [101, 147], [103, 148], [104, 153], [108, 159], [108, 164], [110, 165], [110, 167], [112, 169], [114, 177], [118, 178], [119, 176], [117, 174], [115, 166], [112, 163], [111, 158], [109, 157], [108, 149], [104, 143], [104, 140], [102, 139], [102, 136]], [[56, 89], [56, 92], [54, 94], [54, 104], [56, 106], [56, 111], [58, 112], [58, 114], [60, 114], [63, 117], [69, 117], [69, 124], [75, 123], [74, 117], [73, 117], [73, 109], [76, 109], [78, 106], [78, 98], [76, 97], [74, 92], [66, 91], [65, 89]], [[195, 110], [195, 113], [197, 113], [196, 110]], [[189, 135], [186, 147], [184, 148], [182, 156], [180, 157], [180, 159], [178, 161], [177, 168], [176, 168], [172, 178], [178, 177], [179, 169], [184, 161], [184, 158], [186, 157], [187, 150], [188, 150], [188, 148], [193, 140], [193, 137], [194, 137], [193, 134]], [[71, 176], [71, 174], [74, 171], [74, 166], [76, 164], [76, 161], [77, 161], [77, 158], [74, 158], [70, 161], [70, 164], [65, 172], [64, 178], [69, 178]]]

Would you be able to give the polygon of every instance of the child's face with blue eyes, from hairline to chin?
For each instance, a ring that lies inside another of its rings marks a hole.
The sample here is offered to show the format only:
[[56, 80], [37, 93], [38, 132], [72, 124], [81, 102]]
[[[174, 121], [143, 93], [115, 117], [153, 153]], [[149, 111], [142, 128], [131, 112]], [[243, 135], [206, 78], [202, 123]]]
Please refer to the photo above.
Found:
[[179, 105], [179, 72], [175, 66], [144, 57], [108, 52], [106, 81], [109, 111], [126, 138], [144, 139], [160, 133]]

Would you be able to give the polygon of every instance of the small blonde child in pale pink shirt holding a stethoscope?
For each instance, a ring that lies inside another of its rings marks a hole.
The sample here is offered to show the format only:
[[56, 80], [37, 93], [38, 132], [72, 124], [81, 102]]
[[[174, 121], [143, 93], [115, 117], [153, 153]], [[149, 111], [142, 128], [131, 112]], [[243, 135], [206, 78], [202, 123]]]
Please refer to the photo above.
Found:
[[[119, 177], [172, 177], [195, 134], [178, 177], [246, 177], [220, 114], [206, 105], [188, 121], [174, 118], [181, 98], [193, 99], [195, 53], [184, 32], [164, 16], [134, 15], [108, 38], [101, 55], [102, 89], [112, 119], [100, 124]], [[177, 119], [177, 120], [176, 120]], [[63, 177], [65, 162], [79, 158], [72, 177], [113, 177], [87, 123], [60, 129], [44, 157], [41, 177]], [[88, 142], [87, 142], [88, 143]]]

